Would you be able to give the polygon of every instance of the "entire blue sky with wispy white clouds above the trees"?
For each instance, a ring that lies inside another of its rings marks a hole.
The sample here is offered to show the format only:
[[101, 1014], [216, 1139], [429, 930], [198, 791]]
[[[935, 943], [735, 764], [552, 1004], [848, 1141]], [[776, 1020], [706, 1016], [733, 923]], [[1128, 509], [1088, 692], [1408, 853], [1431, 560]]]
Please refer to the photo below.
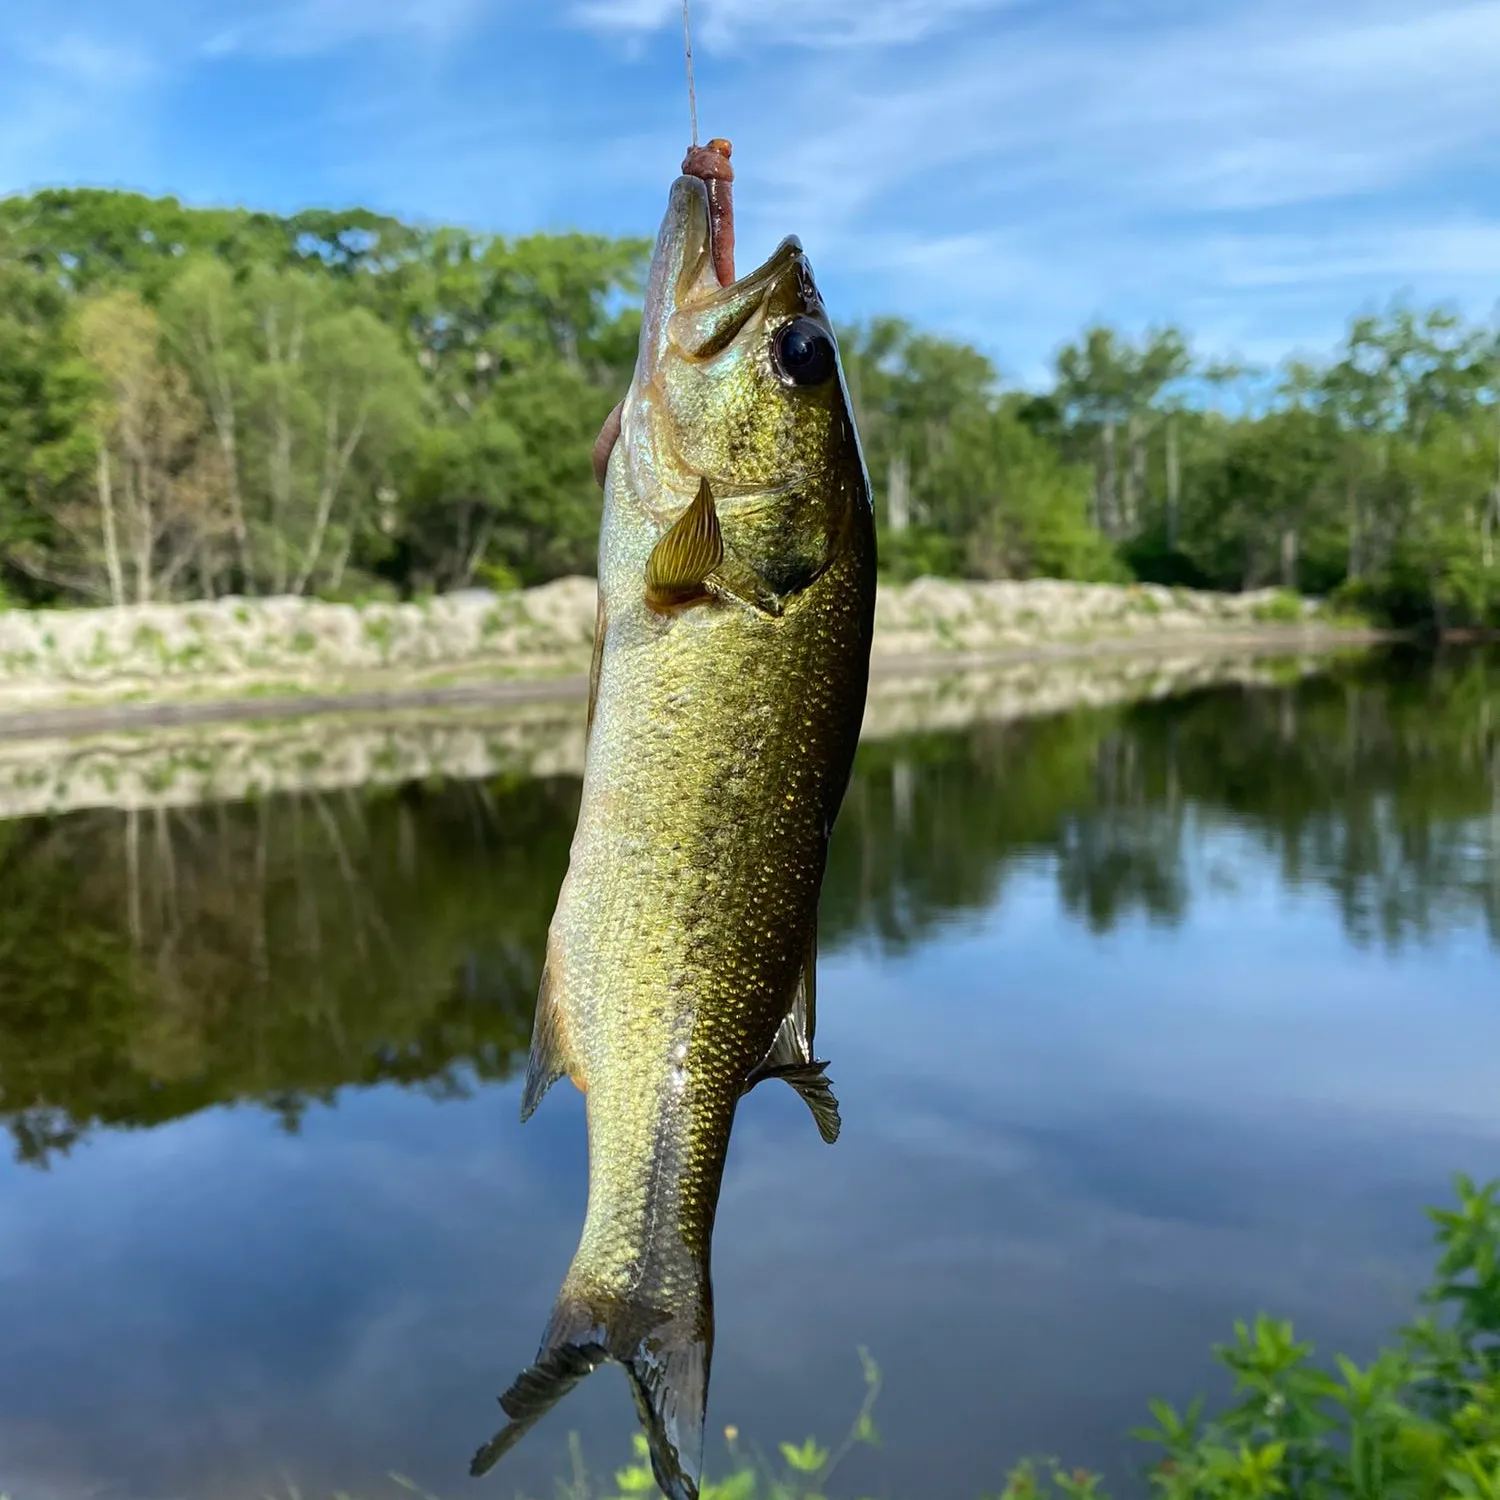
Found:
[[[741, 266], [1034, 381], [1086, 320], [1330, 345], [1500, 297], [1500, 0], [696, 0]], [[6, 0], [0, 190], [650, 236], [678, 0]]]

